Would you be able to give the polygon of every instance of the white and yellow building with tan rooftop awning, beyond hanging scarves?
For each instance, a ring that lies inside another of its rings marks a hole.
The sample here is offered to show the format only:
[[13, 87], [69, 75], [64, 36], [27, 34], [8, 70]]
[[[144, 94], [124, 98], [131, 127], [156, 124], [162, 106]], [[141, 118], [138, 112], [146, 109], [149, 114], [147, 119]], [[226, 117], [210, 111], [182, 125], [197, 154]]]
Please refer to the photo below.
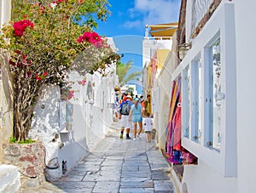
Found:
[[[166, 122], [169, 111], [173, 60], [172, 52], [176, 39], [177, 23], [147, 26], [143, 40], [143, 95], [150, 95], [149, 113], [154, 116], [157, 142], [164, 150], [166, 144]], [[148, 37], [148, 35], [151, 37]], [[173, 44], [174, 41], [174, 44]], [[174, 59], [173, 59], [174, 58]]]

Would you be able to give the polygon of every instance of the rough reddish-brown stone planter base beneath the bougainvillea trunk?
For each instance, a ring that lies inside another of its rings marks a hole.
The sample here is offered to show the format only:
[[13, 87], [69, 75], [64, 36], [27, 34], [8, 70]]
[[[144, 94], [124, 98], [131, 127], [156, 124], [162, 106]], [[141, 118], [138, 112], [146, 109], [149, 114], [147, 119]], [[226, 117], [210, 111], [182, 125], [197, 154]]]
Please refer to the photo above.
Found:
[[44, 178], [44, 145], [3, 144], [3, 162], [20, 170], [21, 187], [37, 187]]

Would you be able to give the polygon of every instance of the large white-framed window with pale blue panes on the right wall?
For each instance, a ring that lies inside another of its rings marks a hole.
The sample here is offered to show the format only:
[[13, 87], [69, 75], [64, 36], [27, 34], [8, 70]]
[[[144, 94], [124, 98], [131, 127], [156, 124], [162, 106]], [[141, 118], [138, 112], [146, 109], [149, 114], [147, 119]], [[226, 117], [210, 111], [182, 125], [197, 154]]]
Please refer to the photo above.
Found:
[[[183, 148], [223, 176], [236, 177], [234, 5], [220, 4], [214, 14], [200, 36], [195, 37], [185, 59], [172, 73], [172, 80], [182, 73], [183, 92], [189, 93], [189, 107], [185, 103], [186, 96], [183, 96], [182, 117], [188, 119], [190, 116], [189, 137], [188, 133], [183, 133]], [[185, 81], [187, 77], [189, 82]], [[183, 124], [186, 122], [183, 120]], [[183, 131], [185, 128], [183, 125]]]

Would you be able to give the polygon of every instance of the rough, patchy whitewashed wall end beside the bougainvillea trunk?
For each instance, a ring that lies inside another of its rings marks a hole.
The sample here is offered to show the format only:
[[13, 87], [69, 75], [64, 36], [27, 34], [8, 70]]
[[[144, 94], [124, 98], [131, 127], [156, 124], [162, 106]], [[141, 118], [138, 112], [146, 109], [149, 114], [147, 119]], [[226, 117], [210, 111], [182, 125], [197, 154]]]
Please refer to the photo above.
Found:
[[60, 88], [48, 85], [42, 90], [35, 107], [32, 129], [28, 137], [41, 140], [45, 147], [45, 177], [49, 181], [61, 178], [61, 161], [58, 158]]

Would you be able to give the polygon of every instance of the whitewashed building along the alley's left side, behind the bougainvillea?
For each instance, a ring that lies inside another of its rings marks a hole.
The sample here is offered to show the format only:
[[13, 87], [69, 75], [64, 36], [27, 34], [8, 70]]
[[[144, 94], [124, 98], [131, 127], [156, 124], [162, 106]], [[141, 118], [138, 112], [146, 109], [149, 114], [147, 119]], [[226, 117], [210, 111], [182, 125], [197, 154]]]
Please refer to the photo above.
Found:
[[[112, 38], [108, 38], [116, 50]], [[35, 107], [29, 137], [39, 138], [46, 149], [45, 176], [51, 181], [74, 167], [108, 134], [113, 122], [114, 86], [117, 85], [115, 64], [109, 73], [79, 76], [73, 71], [69, 82], [73, 98], [61, 100], [60, 88], [44, 88]]]

